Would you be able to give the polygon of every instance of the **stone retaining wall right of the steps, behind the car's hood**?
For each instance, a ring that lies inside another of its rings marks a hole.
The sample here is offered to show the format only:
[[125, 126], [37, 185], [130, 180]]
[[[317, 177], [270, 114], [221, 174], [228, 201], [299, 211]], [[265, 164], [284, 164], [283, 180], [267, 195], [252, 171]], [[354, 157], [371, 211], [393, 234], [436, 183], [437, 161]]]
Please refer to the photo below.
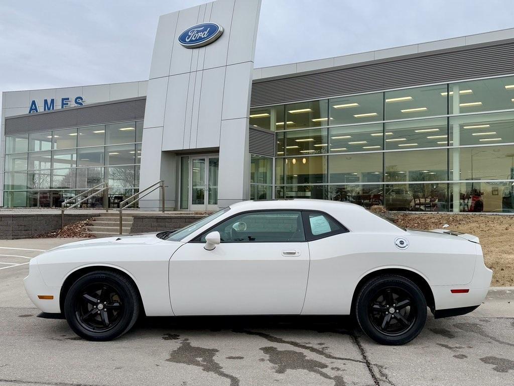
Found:
[[133, 215], [134, 222], [130, 233], [147, 233], [179, 229], [207, 215]]

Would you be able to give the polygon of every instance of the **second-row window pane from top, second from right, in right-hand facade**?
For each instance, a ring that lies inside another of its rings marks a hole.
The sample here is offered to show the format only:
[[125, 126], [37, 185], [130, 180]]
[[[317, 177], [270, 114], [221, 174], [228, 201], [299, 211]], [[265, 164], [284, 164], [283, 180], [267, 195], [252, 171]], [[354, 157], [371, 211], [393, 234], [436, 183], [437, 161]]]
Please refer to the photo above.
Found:
[[386, 150], [448, 146], [446, 118], [386, 123]]

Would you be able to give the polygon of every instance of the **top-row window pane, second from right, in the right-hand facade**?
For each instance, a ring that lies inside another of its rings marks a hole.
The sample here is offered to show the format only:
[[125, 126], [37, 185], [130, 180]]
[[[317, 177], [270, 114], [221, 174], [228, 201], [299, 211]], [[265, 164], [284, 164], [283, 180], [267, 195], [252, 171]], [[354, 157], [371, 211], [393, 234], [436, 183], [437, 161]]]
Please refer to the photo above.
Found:
[[447, 86], [415, 87], [385, 94], [386, 120], [446, 115]]

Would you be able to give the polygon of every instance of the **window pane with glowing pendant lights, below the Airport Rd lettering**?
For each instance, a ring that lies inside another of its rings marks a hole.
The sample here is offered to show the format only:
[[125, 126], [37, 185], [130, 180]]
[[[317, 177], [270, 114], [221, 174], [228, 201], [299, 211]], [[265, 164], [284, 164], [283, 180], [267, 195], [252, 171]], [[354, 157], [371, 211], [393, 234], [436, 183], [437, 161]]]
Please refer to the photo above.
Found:
[[285, 159], [286, 184], [319, 184], [327, 182], [327, 156]]

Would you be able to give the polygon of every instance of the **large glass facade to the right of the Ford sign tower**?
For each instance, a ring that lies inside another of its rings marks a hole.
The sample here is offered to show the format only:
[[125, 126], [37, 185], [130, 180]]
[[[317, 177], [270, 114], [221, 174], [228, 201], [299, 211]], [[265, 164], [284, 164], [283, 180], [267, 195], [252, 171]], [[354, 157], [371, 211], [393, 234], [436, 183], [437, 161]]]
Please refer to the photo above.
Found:
[[514, 77], [251, 109], [257, 114], [267, 115], [251, 125], [276, 131], [276, 157], [273, 188], [252, 198], [514, 212]]

